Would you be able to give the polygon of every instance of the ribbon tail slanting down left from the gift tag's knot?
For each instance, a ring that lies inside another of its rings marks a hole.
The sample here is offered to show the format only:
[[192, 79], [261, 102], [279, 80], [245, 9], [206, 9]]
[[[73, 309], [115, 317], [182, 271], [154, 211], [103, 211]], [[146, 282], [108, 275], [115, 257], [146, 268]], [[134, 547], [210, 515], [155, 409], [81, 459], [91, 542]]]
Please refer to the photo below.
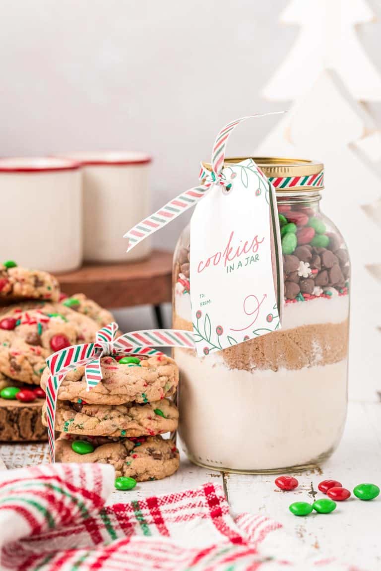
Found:
[[154, 232], [160, 230], [198, 203], [198, 201], [205, 196], [210, 186], [211, 184], [201, 184], [200, 186], [190, 188], [131, 228], [131, 230], [126, 232], [123, 236], [123, 238], [127, 238], [128, 240], [126, 251], [130, 252], [135, 246], [142, 242], [142, 240], [145, 240], [145, 238], [148, 238], [148, 236], [151, 236], [151, 234], [154, 234]]

